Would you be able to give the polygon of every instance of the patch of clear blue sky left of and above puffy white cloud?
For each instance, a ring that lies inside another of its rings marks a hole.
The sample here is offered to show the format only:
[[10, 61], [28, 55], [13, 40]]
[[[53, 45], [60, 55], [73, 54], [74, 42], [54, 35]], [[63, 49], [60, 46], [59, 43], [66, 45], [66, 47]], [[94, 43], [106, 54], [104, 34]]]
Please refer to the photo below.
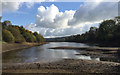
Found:
[[60, 12], [65, 12], [65, 10], [77, 10], [83, 2], [41, 2], [35, 3], [31, 8], [27, 8], [24, 3], [17, 12], [4, 12], [2, 14], [2, 21], [10, 20], [12, 24], [23, 26], [35, 23], [37, 9], [40, 6], [49, 7], [52, 4], [57, 6]]

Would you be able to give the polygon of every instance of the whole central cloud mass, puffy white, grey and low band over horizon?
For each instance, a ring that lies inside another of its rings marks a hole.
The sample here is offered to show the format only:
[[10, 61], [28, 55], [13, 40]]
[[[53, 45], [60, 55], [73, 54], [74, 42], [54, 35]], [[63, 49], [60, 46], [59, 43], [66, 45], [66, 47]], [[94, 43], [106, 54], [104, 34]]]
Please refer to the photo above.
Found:
[[82, 34], [90, 27], [99, 27], [102, 20], [117, 16], [115, 2], [85, 2], [76, 11], [66, 10], [59, 12], [55, 5], [40, 6], [36, 15], [36, 24], [26, 28], [41, 33], [44, 37], [58, 37], [73, 34]]

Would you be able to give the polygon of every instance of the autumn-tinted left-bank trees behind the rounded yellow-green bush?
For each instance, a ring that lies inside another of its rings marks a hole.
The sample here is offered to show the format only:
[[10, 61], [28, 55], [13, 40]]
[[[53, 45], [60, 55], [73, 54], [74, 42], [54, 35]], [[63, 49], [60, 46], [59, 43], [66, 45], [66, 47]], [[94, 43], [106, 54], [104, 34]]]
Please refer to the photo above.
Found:
[[[10, 21], [2, 22], [1, 26], [3, 26], [4, 33], [6, 31], [8, 32], [8, 34], [12, 34], [12, 36], [14, 37], [15, 43], [22, 43], [25, 41], [26, 42], [43, 42], [44, 41], [44, 38], [42, 35], [37, 33], [37, 35], [35, 36], [31, 31], [26, 30], [23, 26], [12, 25]], [[7, 37], [5, 35], [5, 39], [6, 38]]]

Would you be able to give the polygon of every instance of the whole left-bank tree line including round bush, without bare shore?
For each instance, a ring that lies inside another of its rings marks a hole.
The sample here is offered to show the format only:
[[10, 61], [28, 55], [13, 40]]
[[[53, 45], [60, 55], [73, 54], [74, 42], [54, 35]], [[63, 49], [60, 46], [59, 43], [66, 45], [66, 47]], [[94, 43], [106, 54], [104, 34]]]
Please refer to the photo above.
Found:
[[23, 26], [12, 25], [10, 21], [4, 21], [2, 25], [2, 40], [9, 43], [44, 42], [44, 38], [37, 32], [25, 29]]

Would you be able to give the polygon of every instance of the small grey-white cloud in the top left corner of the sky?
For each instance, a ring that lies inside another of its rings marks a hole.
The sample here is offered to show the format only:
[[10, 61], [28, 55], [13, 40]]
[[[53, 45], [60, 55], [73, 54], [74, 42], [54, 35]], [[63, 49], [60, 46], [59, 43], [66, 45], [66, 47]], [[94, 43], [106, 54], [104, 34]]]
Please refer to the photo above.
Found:
[[[44, 2], [44, 1], [55, 1], [55, 0], [2, 0], [0, 4], [0, 10], [2, 12], [16, 12], [19, 10], [22, 4], [25, 4], [27, 8], [31, 8], [34, 6], [35, 2]], [[1, 14], [1, 13], [0, 13]]]

